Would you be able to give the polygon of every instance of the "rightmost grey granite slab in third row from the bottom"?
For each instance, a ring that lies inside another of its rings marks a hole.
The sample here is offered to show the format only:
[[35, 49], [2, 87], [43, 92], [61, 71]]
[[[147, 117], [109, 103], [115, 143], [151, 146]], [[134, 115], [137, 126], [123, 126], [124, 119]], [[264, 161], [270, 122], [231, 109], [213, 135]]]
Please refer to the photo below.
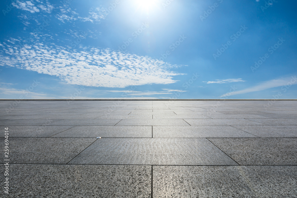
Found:
[[234, 126], [258, 137], [297, 137], [296, 125]]

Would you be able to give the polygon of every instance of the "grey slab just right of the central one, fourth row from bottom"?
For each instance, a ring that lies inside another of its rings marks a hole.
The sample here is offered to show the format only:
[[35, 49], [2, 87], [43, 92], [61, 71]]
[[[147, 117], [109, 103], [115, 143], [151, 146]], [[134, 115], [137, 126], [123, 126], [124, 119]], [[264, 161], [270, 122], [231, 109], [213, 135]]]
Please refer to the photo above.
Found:
[[189, 125], [265, 125], [247, 119], [184, 119]]

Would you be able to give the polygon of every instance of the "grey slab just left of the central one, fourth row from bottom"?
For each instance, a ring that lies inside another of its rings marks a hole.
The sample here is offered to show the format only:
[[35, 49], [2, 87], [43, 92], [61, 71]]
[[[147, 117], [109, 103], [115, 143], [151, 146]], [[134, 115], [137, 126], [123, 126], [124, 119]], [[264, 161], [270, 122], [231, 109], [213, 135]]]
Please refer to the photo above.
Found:
[[49, 126], [114, 126], [121, 119], [65, 119], [49, 123]]

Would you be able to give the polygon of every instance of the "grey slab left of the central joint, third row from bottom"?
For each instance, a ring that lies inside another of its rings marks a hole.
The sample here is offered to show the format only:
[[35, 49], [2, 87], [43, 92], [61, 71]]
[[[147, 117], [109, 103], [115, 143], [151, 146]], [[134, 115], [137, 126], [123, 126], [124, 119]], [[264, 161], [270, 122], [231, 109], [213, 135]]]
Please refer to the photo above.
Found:
[[152, 126], [75, 126], [52, 137], [151, 137]]

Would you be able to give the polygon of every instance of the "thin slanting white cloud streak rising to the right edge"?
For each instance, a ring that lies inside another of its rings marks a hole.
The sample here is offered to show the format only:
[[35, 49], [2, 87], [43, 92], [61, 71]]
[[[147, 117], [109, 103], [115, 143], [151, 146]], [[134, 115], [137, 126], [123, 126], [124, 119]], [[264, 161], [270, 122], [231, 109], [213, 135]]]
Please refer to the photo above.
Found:
[[254, 91], [262, 91], [262, 90], [269, 89], [269, 88], [281, 87], [281, 86], [286, 86], [286, 85], [295, 85], [295, 84], [297, 84], [296, 76], [287, 77], [287, 78], [279, 78], [279, 79], [262, 82], [259, 85], [249, 87], [249, 88], [246, 88], [246, 89], [243, 89], [240, 91], [230, 92], [230, 93], [224, 94], [220, 97], [233, 96], [233, 95], [238, 95], [238, 94], [246, 94], [246, 93], [250, 93], [250, 92], [254, 92]]

